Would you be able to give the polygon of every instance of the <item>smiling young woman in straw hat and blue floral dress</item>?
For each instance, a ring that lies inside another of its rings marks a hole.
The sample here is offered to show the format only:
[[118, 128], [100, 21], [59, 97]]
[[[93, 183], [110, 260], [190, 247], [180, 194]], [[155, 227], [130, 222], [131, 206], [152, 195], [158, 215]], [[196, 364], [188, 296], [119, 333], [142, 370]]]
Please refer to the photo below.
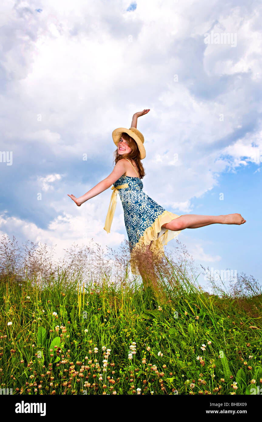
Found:
[[[143, 192], [141, 179], [145, 176], [141, 160], [146, 157], [143, 146], [144, 137], [137, 130], [137, 119], [147, 114], [149, 109], [144, 109], [134, 114], [130, 129], [119, 127], [113, 130], [113, 142], [117, 146], [115, 151], [115, 166], [112, 173], [84, 195], [76, 198], [68, 195], [81, 206], [82, 203], [99, 195], [105, 189], [113, 189], [108, 214], [104, 229], [110, 233], [113, 214], [116, 208], [117, 192], [124, 209], [124, 222], [130, 245], [131, 271], [133, 274], [141, 273], [134, 259], [140, 252], [151, 250], [152, 252], [164, 252], [163, 246], [176, 237], [181, 230], [195, 229], [210, 224], [243, 224], [246, 220], [240, 214], [227, 215], [177, 215], [165, 210], [151, 197]], [[140, 249], [142, 248], [142, 249]]]

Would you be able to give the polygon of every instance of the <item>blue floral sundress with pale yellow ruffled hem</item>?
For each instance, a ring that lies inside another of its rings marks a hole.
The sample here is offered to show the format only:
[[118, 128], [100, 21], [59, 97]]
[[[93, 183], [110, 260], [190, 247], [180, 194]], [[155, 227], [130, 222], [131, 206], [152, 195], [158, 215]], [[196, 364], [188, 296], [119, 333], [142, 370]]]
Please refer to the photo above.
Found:
[[[130, 160], [128, 161], [130, 162]], [[130, 164], [132, 165], [131, 162]], [[134, 168], [133, 165], [132, 167]], [[125, 185], [125, 187], [118, 189], [122, 185]], [[123, 175], [115, 181], [111, 189], [114, 189], [114, 191], [117, 190], [119, 193], [124, 209], [124, 223], [131, 254], [131, 271], [133, 274], [139, 274], [138, 268], [132, 262], [133, 249], [138, 245], [150, 245], [149, 247], [152, 250], [157, 249], [164, 252], [163, 245], [166, 245], [168, 241], [176, 237], [181, 230], [161, 229], [161, 226], [178, 218], [179, 215], [165, 210], [165, 208], [146, 195], [143, 192], [143, 182], [139, 177]], [[105, 228], [105, 230], [107, 229]], [[110, 233], [110, 229], [108, 233]]]

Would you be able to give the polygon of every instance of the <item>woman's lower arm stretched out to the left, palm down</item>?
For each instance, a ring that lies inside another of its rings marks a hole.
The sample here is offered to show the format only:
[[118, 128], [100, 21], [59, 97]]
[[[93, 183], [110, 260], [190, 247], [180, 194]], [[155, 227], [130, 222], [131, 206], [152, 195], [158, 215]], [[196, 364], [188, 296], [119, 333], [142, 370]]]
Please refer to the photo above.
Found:
[[109, 176], [97, 183], [97, 185], [92, 187], [92, 189], [90, 189], [84, 195], [79, 196], [79, 198], [69, 194], [68, 196], [70, 196], [70, 198], [76, 203], [76, 205], [80, 207], [87, 200], [93, 198], [96, 195], [99, 195], [101, 192], [104, 192], [104, 190], [111, 187], [111, 185], [115, 183], [115, 181], [118, 180], [126, 172], [125, 166], [125, 160], [119, 160], [113, 168], [112, 173], [110, 173]]

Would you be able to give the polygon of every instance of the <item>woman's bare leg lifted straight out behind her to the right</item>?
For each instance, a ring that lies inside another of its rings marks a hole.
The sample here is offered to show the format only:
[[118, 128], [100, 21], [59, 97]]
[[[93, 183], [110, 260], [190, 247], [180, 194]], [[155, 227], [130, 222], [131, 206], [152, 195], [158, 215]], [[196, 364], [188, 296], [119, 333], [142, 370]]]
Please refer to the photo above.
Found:
[[243, 224], [246, 220], [241, 214], [227, 214], [227, 215], [198, 215], [185, 214], [165, 223], [161, 228], [178, 231], [184, 229], [197, 229], [198, 227], [208, 226], [210, 224]]

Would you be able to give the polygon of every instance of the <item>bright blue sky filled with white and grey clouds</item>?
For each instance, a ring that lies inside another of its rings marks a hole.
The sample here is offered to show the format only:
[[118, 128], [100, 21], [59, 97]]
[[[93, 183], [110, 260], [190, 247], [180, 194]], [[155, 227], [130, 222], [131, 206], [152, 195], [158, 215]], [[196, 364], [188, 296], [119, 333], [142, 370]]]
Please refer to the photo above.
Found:
[[0, 235], [117, 249], [119, 197], [107, 234], [111, 189], [81, 207], [68, 194], [111, 173], [112, 131], [150, 108], [144, 192], [179, 215], [240, 213], [178, 240], [198, 265], [261, 282], [261, 19], [254, 0], [2, 0]]

